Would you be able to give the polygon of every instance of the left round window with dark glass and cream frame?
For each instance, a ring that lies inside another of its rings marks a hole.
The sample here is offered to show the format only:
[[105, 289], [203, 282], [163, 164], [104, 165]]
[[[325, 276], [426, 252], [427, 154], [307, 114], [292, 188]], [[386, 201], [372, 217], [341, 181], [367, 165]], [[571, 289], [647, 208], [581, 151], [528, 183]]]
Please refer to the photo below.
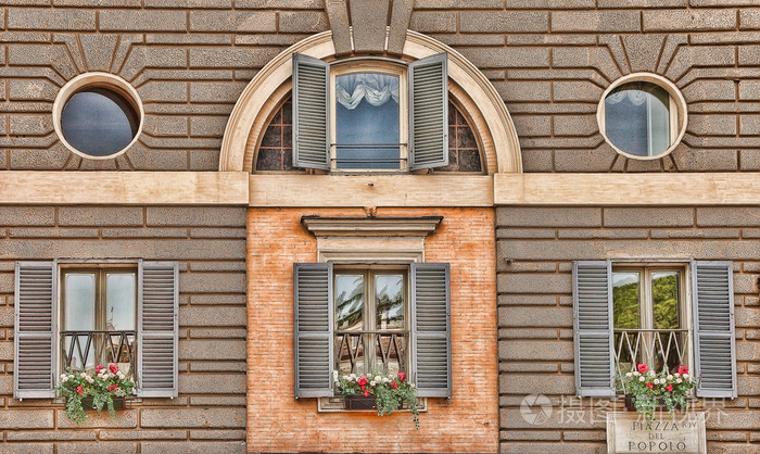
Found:
[[79, 155], [114, 157], [140, 135], [139, 97], [119, 77], [92, 73], [83, 76], [61, 89], [54, 108], [55, 130], [63, 143]]

